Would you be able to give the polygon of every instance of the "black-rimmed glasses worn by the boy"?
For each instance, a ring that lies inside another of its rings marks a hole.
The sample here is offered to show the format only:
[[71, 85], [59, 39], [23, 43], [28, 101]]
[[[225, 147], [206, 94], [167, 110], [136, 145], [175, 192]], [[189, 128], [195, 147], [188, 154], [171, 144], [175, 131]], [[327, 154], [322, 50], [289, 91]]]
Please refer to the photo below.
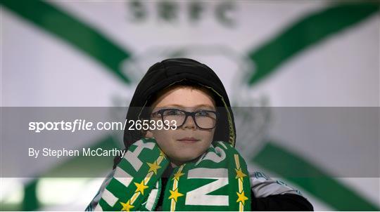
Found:
[[185, 110], [179, 110], [175, 108], [158, 110], [152, 113], [152, 117], [155, 117], [157, 114], [160, 114], [163, 123], [170, 123], [170, 126], [175, 123], [177, 128], [184, 125], [187, 117], [192, 117], [196, 126], [205, 130], [215, 128], [218, 117], [217, 112], [212, 110], [197, 110], [195, 112], [187, 112]]

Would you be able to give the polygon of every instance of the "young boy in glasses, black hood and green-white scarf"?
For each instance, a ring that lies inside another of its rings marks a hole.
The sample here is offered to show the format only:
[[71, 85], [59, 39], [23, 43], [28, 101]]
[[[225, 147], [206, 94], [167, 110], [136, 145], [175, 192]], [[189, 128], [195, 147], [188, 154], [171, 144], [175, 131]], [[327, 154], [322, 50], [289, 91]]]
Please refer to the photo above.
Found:
[[[215, 72], [195, 60], [153, 65], [141, 79], [115, 158], [87, 211], [310, 211], [297, 190], [249, 174], [234, 149], [234, 115]], [[145, 122], [144, 122], [145, 120]], [[137, 122], [136, 122], [137, 123]]]

